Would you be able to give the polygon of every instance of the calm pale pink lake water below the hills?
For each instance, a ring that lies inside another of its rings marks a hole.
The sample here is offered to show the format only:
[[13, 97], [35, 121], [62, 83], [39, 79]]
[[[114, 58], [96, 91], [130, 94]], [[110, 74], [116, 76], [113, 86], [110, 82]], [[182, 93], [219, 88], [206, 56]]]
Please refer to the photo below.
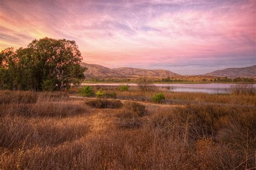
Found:
[[[136, 83], [128, 83], [127, 85], [136, 87]], [[171, 84], [155, 84], [157, 87], [167, 91], [185, 91], [185, 92], [202, 92], [202, 93], [229, 93], [228, 89], [234, 85], [233, 83], [171, 83]], [[120, 83], [82, 83], [82, 86], [110, 86], [116, 88]], [[256, 84], [253, 84], [256, 88]]]

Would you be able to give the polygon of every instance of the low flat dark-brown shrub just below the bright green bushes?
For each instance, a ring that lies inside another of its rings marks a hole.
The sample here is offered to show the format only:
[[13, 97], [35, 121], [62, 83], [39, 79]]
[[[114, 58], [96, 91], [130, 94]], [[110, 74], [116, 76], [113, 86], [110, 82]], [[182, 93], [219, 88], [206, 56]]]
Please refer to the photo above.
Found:
[[118, 109], [123, 106], [123, 103], [119, 100], [107, 100], [107, 99], [97, 99], [86, 102], [85, 104], [89, 105], [91, 108], [110, 108], [110, 109]]

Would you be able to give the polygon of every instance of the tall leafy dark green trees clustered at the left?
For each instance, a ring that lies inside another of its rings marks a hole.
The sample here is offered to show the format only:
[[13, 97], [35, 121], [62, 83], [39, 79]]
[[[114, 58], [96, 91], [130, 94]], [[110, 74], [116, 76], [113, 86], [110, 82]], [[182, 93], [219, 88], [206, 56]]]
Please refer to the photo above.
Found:
[[0, 89], [63, 90], [84, 80], [82, 56], [75, 41], [43, 38], [28, 47], [0, 53]]

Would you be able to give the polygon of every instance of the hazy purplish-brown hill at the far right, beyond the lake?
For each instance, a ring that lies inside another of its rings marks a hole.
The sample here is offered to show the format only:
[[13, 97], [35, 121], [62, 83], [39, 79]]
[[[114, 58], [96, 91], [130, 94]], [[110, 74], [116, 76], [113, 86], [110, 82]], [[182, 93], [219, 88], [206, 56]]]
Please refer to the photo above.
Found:
[[251, 67], [243, 67], [243, 68], [226, 68], [221, 70], [216, 70], [211, 73], [203, 74], [205, 76], [218, 76], [218, 77], [256, 77], [256, 65]]

